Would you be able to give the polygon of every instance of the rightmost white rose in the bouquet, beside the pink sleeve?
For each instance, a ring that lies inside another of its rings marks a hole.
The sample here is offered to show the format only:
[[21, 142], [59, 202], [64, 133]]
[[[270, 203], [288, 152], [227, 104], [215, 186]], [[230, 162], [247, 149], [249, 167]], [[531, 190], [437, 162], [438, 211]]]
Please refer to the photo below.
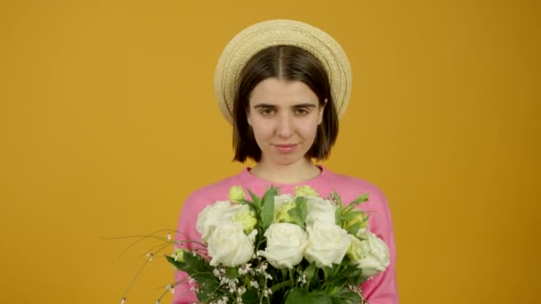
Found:
[[351, 263], [362, 269], [363, 276], [374, 276], [384, 271], [391, 262], [387, 244], [373, 233], [368, 233], [367, 239], [362, 241], [351, 236], [348, 256]]

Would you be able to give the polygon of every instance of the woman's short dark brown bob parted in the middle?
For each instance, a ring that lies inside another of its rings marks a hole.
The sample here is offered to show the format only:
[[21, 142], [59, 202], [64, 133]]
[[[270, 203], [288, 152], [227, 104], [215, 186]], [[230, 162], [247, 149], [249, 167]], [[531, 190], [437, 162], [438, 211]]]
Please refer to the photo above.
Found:
[[338, 116], [327, 72], [311, 52], [294, 45], [275, 45], [257, 52], [246, 62], [240, 74], [240, 84], [233, 100], [233, 160], [241, 163], [246, 161], [246, 158], [252, 158], [255, 162], [261, 160], [261, 149], [255, 141], [252, 127], [247, 122], [246, 111], [249, 110], [250, 94], [254, 87], [271, 77], [287, 81], [298, 80], [308, 85], [318, 96], [320, 107], [325, 105], [327, 100], [316, 139], [305, 155], [307, 158], [326, 159], [338, 135]]

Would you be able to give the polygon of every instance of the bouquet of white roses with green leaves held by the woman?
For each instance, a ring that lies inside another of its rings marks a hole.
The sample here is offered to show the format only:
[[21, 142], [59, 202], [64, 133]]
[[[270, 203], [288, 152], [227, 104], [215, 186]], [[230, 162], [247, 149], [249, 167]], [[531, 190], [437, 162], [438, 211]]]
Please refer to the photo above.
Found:
[[[230, 188], [228, 201], [198, 214], [201, 241], [166, 259], [188, 276], [203, 303], [365, 303], [359, 284], [389, 265], [387, 245], [355, 208], [308, 186], [295, 196], [267, 189], [262, 197]], [[170, 285], [169, 288], [174, 288]]]

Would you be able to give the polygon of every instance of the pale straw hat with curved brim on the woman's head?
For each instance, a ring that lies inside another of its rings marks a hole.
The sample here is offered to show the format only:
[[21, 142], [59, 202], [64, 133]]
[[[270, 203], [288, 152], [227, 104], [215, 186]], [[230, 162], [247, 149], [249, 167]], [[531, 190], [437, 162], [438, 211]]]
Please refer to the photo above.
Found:
[[240, 73], [255, 53], [269, 46], [295, 45], [311, 52], [327, 71], [338, 117], [351, 95], [351, 67], [342, 47], [319, 28], [295, 20], [267, 20], [245, 28], [222, 52], [214, 74], [214, 91], [223, 116], [233, 121], [233, 99]]

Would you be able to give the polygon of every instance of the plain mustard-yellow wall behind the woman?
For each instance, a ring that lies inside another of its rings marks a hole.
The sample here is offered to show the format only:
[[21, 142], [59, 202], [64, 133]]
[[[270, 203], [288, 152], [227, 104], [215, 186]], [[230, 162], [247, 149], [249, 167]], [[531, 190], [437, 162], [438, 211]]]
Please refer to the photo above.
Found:
[[[353, 92], [325, 165], [384, 189], [402, 303], [540, 302], [537, 1], [0, 4], [0, 302], [117, 303], [191, 190], [240, 171], [214, 100], [257, 21], [323, 28]], [[133, 285], [153, 303], [164, 260]], [[167, 302], [170, 298], [167, 298]]]

